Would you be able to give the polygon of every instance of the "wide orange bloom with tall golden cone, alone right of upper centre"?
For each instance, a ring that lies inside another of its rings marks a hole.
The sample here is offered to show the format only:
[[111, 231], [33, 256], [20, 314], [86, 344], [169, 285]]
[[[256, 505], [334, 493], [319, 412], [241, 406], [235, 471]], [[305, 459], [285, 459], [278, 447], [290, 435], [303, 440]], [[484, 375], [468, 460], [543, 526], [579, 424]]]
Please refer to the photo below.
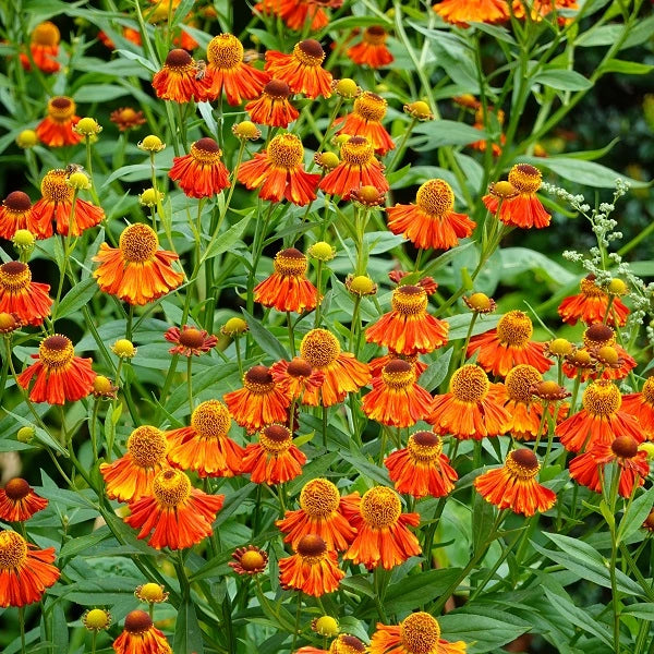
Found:
[[415, 204], [397, 204], [386, 209], [388, 229], [422, 250], [449, 250], [476, 227], [476, 222], [453, 208], [451, 186], [444, 180], [429, 180], [417, 190]]

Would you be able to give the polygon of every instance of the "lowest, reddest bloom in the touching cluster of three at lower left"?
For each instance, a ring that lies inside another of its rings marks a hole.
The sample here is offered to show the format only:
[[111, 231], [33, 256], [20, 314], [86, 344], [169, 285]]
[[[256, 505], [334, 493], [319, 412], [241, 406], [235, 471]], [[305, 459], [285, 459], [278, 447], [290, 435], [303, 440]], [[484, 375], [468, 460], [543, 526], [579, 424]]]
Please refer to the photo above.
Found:
[[184, 549], [213, 533], [211, 524], [222, 508], [225, 495], [207, 495], [191, 486], [179, 470], [162, 470], [153, 482], [153, 495], [130, 502], [124, 521], [141, 529], [137, 538], [147, 538], [155, 549]]

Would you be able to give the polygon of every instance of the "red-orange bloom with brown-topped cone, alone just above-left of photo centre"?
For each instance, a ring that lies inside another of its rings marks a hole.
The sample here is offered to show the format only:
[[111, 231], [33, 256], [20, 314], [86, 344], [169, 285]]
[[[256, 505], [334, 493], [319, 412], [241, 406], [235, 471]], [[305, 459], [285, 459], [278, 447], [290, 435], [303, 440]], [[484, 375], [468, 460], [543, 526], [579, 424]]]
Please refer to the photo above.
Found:
[[295, 247], [275, 255], [274, 272], [254, 289], [254, 301], [277, 311], [302, 313], [318, 304], [318, 289], [306, 278], [308, 261]]

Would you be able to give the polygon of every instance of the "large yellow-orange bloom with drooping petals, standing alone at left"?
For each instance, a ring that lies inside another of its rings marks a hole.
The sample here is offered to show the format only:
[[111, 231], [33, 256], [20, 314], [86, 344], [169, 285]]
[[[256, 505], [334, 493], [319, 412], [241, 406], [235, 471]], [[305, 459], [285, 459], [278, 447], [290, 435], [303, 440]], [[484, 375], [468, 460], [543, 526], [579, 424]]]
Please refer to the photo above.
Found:
[[156, 232], [142, 222], [125, 227], [118, 247], [107, 243], [94, 262], [99, 262], [93, 276], [100, 290], [117, 295], [129, 304], [147, 304], [182, 283], [184, 276], [172, 269], [174, 252], [159, 250]]

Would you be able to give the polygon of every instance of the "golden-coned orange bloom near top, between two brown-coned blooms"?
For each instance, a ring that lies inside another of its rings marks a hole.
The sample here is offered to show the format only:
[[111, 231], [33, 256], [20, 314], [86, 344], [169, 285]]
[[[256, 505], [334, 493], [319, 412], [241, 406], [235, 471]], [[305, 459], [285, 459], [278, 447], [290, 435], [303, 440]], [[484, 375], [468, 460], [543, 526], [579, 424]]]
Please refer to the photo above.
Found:
[[243, 46], [232, 34], [219, 34], [207, 46], [206, 77], [208, 99], [225, 90], [230, 105], [257, 98], [270, 75], [243, 62]]

